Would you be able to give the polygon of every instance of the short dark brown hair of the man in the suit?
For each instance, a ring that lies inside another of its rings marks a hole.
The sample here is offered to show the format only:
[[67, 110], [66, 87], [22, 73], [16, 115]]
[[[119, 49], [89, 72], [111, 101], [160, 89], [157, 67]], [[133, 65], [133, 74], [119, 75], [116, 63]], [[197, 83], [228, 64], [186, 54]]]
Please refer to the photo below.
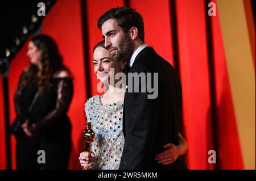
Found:
[[144, 23], [139, 12], [131, 9], [130, 7], [117, 7], [110, 9], [98, 19], [98, 28], [101, 30], [102, 24], [109, 19], [116, 20], [117, 25], [121, 27], [125, 33], [128, 32], [130, 28], [137, 27], [138, 36], [144, 43]]

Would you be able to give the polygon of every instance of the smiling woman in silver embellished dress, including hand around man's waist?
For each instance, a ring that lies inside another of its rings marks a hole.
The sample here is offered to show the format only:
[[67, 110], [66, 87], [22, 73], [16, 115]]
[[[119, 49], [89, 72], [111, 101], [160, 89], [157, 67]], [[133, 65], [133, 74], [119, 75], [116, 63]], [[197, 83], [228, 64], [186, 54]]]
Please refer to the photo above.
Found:
[[[102, 96], [93, 96], [85, 104], [87, 121], [93, 123], [96, 137], [92, 153], [80, 153], [79, 160], [81, 166], [90, 166], [90, 169], [115, 170], [119, 167], [125, 143], [122, 132], [125, 87], [117, 88], [117, 82], [112, 85], [109, 79], [113, 74], [123, 71], [125, 63], [113, 61], [109, 50], [104, 48], [104, 41], [101, 41], [94, 47], [93, 65], [98, 79], [108, 87], [108, 91]], [[110, 68], [114, 69], [114, 73]], [[156, 161], [168, 165], [185, 153], [187, 142], [179, 134], [179, 145], [169, 143], [164, 148], [167, 150], [156, 155]]]

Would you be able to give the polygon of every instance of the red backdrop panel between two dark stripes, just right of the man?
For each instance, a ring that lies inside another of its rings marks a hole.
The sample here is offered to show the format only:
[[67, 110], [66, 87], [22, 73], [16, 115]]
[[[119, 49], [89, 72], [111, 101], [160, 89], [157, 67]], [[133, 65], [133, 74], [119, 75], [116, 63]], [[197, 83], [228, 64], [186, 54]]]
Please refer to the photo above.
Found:
[[[212, 169], [208, 150], [212, 146], [212, 115], [207, 51], [205, 3], [176, 1], [180, 79], [183, 86], [183, 118], [189, 145], [188, 163], [195, 169]], [[195, 154], [196, 153], [196, 154]]]

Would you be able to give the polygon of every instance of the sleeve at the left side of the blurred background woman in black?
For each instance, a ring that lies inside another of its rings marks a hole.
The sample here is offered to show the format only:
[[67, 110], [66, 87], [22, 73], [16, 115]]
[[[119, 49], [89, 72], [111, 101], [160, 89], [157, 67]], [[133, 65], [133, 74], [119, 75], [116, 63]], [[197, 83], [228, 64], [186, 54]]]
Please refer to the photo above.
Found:
[[16, 117], [21, 122], [24, 122], [28, 117], [28, 110], [24, 108], [22, 99], [21, 99], [22, 89], [21, 89], [20, 83], [22, 81], [22, 78], [23, 78], [23, 73], [22, 75], [20, 75], [18, 86], [16, 87], [16, 91], [14, 94], [14, 108], [16, 112]]

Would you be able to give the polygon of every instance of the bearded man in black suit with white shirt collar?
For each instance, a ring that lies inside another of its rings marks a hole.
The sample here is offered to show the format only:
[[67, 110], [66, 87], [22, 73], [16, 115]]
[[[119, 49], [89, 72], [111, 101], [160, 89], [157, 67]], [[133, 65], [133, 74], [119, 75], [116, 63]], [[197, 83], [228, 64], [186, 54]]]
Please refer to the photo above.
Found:
[[[130, 65], [123, 112], [125, 146], [119, 169], [186, 169], [182, 157], [170, 165], [155, 161], [155, 155], [164, 150], [162, 145], [177, 145], [181, 85], [171, 64], [144, 44], [141, 14], [129, 7], [110, 9], [98, 20], [98, 28], [114, 60], [127, 60]], [[143, 75], [146, 78], [141, 78]], [[153, 94], [148, 85], [154, 86]]]

